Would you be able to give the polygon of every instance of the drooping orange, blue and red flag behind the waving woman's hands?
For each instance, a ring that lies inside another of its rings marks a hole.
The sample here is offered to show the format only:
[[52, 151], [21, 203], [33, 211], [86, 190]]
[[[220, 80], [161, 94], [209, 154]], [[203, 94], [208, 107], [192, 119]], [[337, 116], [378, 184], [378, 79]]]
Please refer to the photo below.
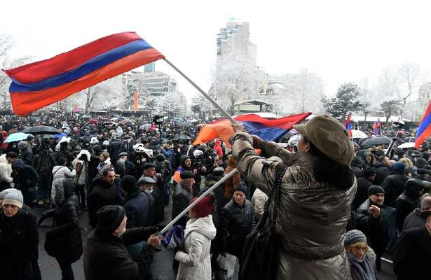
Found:
[[[264, 140], [278, 141], [293, 125], [301, 123], [311, 113], [300, 113], [283, 118], [261, 118], [256, 114], [236, 116], [234, 119], [242, 123], [249, 134], [261, 137]], [[216, 138], [222, 139], [229, 145], [229, 139], [233, 135], [231, 122], [229, 120], [219, 120], [217, 122], [204, 125], [200, 130], [193, 145], [203, 144]]]

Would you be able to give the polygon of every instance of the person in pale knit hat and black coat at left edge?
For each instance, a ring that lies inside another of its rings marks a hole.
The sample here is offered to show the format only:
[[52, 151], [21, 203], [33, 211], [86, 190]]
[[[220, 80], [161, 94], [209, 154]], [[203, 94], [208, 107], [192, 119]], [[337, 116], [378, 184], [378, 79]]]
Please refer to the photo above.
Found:
[[0, 212], [0, 272], [3, 280], [41, 279], [36, 217], [22, 210], [20, 191], [8, 193]]

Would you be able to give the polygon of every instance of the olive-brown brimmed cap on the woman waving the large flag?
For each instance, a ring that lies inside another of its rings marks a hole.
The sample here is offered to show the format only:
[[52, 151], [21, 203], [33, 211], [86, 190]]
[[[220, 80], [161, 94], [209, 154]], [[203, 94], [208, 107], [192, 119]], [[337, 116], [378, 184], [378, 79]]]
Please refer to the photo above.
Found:
[[315, 116], [305, 125], [294, 125], [293, 128], [328, 158], [350, 167], [355, 148], [348, 137], [346, 127], [336, 118], [326, 115]]

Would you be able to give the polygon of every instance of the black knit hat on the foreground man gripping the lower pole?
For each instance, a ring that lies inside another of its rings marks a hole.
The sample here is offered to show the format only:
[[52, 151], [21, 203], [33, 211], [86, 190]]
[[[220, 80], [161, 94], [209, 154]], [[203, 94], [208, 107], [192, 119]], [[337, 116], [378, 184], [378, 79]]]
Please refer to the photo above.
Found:
[[124, 208], [119, 205], [107, 205], [97, 211], [97, 228], [104, 232], [114, 232], [123, 221]]

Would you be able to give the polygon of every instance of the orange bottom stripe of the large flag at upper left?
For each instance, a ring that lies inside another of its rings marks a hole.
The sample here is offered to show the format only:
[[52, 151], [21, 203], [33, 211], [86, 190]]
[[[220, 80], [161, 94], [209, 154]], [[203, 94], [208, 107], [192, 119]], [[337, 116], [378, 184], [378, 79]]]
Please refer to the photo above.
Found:
[[85, 88], [100, 83], [103, 80], [107, 80], [121, 73], [162, 58], [164, 58], [164, 56], [156, 49], [151, 48], [148, 50], [142, 50], [108, 64], [101, 69], [88, 73], [88, 75], [85, 75], [78, 80], [60, 85], [59, 87], [53, 87], [48, 90], [39, 90], [36, 92], [12, 92], [11, 101], [13, 111], [19, 116], [27, 115], [32, 111], [36, 111], [44, 106], [60, 101], [75, 92], [84, 90]]

